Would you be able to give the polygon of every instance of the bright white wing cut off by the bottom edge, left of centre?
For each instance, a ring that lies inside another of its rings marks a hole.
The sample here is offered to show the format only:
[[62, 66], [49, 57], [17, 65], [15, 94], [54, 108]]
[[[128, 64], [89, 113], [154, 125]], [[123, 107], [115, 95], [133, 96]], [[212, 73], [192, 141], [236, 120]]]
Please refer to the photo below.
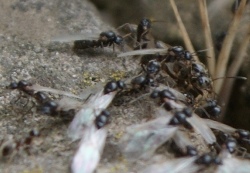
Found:
[[94, 126], [86, 129], [79, 148], [72, 160], [72, 173], [91, 173], [96, 169], [107, 137], [107, 130], [97, 130]]

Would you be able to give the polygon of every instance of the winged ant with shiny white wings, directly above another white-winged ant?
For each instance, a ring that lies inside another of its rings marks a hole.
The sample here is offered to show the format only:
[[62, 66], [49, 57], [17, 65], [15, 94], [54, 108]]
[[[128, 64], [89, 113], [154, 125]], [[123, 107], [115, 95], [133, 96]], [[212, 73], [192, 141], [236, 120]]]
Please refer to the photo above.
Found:
[[[112, 102], [116, 94], [124, 89], [125, 83], [122, 81], [111, 81], [108, 82], [103, 89], [96, 94], [90, 96], [84, 104], [81, 105], [79, 111], [76, 113], [74, 119], [69, 125], [68, 135], [73, 139], [77, 140], [84, 136], [84, 129], [93, 126], [96, 121], [97, 127], [103, 126], [106, 120], [99, 115], [108, 117], [107, 113], [102, 113], [109, 104]], [[99, 125], [98, 125], [99, 124]]]

